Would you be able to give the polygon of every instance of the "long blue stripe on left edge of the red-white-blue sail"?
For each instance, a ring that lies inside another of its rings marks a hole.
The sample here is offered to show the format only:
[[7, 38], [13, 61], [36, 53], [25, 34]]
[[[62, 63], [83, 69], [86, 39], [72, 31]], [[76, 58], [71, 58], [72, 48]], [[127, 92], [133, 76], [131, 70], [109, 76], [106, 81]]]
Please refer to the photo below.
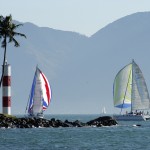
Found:
[[31, 109], [32, 109], [32, 106], [33, 106], [33, 96], [34, 96], [35, 84], [36, 84], [36, 74], [34, 75], [32, 88], [31, 88], [31, 93], [30, 93], [30, 101], [29, 101], [29, 108], [28, 108], [29, 113], [31, 113]]

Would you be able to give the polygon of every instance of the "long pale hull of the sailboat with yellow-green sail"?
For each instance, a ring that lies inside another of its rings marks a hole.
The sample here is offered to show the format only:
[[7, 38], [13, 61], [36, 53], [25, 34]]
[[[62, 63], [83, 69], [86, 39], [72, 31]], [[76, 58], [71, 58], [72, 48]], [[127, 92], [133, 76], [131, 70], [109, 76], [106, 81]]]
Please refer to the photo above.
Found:
[[113, 115], [113, 118], [117, 121], [146, 121], [150, 120], [150, 115], [125, 114]]

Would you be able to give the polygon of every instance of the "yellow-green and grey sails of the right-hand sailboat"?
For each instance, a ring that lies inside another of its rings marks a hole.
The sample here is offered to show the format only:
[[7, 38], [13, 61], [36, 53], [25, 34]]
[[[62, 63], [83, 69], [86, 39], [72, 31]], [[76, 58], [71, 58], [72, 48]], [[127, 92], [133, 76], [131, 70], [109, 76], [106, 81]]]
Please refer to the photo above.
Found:
[[139, 66], [132, 63], [121, 69], [113, 85], [114, 106], [133, 110], [150, 108], [149, 93]]

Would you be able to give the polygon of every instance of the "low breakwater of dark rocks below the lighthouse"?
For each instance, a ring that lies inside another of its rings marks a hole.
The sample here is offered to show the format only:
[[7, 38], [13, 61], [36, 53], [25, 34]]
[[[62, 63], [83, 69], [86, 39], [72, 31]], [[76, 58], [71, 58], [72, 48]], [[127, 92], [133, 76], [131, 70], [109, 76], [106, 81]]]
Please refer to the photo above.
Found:
[[112, 126], [117, 125], [117, 122], [111, 117], [99, 117], [87, 123], [81, 121], [61, 121], [52, 118], [51, 120], [43, 118], [17, 118], [0, 114], [0, 128], [50, 128], [50, 127], [88, 127], [88, 126]]

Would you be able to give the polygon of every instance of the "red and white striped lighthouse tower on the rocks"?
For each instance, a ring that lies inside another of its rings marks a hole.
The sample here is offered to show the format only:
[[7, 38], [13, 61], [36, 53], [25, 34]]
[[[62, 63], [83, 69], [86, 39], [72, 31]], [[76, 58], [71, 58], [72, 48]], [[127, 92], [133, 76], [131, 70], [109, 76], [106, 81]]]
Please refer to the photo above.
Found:
[[5, 62], [2, 88], [3, 114], [11, 114], [11, 66]]

